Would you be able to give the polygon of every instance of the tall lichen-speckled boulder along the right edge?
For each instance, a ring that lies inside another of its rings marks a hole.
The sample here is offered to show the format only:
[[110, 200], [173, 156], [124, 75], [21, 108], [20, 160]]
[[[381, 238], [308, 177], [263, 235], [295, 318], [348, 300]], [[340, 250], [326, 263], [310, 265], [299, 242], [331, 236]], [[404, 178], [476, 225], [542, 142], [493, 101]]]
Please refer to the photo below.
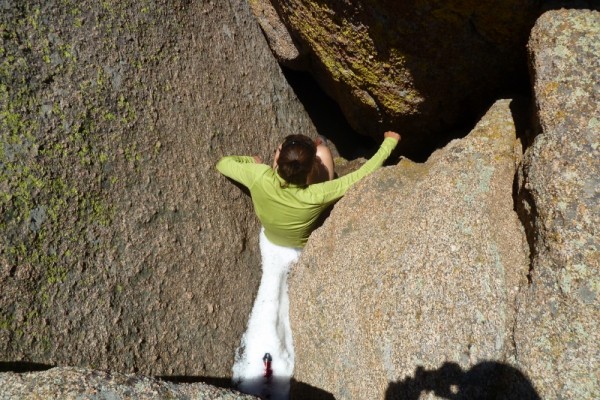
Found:
[[543, 398], [599, 398], [600, 13], [544, 14], [529, 52], [541, 131], [521, 172], [534, 251], [518, 362]]

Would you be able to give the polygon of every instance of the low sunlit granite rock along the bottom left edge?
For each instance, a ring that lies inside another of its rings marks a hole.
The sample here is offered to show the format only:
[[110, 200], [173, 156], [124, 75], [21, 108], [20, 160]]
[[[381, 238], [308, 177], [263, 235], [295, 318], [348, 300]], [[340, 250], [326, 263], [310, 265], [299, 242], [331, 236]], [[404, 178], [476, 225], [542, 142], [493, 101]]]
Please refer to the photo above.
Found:
[[84, 368], [53, 368], [44, 372], [0, 374], [0, 399], [256, 399], [203, 383], [174, 384], [157, 379]]

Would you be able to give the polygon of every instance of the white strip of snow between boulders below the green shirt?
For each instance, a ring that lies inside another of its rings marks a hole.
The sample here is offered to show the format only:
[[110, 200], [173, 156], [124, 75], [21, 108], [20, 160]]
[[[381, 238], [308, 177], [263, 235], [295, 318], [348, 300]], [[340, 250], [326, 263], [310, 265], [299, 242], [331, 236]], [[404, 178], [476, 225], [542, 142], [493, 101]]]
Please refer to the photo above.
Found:
[[[301, 251], [271, 243], [261, 229], [262, 278], [233, 365], [233, 381], [244, 393], [272, 400], [289, 398], [294, 346], [287, 277]], [[273, 359], [273, 375], [269, 379], [263, 377], [265, 353], [271, 354]]]

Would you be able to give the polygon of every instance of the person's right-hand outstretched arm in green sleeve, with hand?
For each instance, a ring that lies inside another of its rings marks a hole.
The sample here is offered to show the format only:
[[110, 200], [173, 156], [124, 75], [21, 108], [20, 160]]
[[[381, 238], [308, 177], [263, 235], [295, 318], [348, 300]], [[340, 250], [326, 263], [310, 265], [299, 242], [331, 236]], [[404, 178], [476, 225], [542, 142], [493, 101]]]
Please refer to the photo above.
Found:
[[311, 189], [318, 190], [322, 193], [324, 203], [331, 203], [342, 197], [353, 184], [369, 175], [371, 172], [379, 169], [390, 154], [392, 154], [392, 151], [400, 141], [400, 135], [392, 131], [386, 132], [383, 137], [384, 140], [377, 153], [375, 153], [375, 155], [362, 167], [341, 178], [312, 185]]

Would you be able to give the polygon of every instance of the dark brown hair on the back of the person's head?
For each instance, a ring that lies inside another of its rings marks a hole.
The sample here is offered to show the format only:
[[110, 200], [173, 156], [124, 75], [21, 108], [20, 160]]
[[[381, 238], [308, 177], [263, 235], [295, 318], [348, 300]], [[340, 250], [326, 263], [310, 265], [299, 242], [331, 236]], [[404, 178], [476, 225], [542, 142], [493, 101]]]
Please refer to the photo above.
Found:
[[317, 156], [317, 146], [308, 136], [289, 135], [283, 141], [277, 172], [286, 182], [306, 186]]

